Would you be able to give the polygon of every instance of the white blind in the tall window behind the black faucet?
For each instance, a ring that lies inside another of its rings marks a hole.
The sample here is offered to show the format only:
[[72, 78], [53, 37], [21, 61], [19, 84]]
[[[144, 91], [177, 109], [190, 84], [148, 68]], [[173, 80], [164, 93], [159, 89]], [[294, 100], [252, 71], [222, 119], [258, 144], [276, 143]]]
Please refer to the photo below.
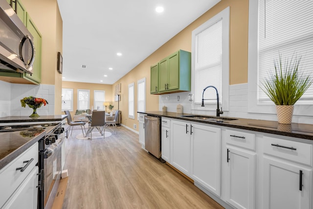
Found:
[[[219, 20], [196, 36], [195, 50], [195, 103], [201, 103], [203, 89], [215, 86], [222, 101], [222, 23]], [[216, 103], [216, 91], [204, 93], [205, 103]]]

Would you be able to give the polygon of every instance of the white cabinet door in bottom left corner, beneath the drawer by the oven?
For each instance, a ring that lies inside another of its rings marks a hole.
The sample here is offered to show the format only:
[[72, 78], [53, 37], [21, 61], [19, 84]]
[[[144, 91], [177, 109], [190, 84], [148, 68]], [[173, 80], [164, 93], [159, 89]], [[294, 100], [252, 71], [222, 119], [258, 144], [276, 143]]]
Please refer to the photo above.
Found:
[[3, 209], [37, 209], [38, 167], [34, 167], [27, 178], [22, 182]]

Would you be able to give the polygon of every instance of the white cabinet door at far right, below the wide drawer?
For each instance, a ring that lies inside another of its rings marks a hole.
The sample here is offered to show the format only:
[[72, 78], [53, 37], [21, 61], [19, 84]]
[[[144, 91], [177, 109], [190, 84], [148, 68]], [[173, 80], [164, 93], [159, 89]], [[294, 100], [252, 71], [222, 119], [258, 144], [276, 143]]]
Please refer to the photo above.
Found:
[[312, 209], [312, 169], [264, 157], [263, 208]]

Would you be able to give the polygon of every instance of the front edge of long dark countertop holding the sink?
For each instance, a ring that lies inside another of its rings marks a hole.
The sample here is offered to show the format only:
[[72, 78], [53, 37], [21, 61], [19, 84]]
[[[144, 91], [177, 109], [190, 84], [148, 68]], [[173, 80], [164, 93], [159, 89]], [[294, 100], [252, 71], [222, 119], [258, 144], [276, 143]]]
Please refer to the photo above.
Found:
[[[156, 111], [157, 112], [157, 111]], [[193, 119], [193, 118], [188, 118], [188, 117], [182, 117], [182, 116], [188, 116], [188, 115], [201, 115], [201, 114], [186, 114], [182, 113], [181, 116], [168, 116], [168, 115], [163, 115], [163, 114], [158, 114], [156, 112], [137, 112], [141, 114], [147, 114], [149, 116], [160, 116], [160, 117], [169, 117], [169, 118], [175, 118], [175, 119], [180, 119], [180, 120], [188, 120], [188, 121], [193, 121], [193, 122], [200, 122], [200, 123], [206, 123], [206, 124], [212, 124], [212, 125], [218, 125], [218, 126], [226, 126], [230, 128], [238, 128], [238, 129], [244, 129], [248, 131], [257, 131], [257, 132], [262, 132], [262, 133], [269, 133], [269, 134], [275, 134], [275, 135], [280, 135], [280, 136], [286, 136], [286, 137], [294, 137], [294, 138], [300, 138], [300, 139], [309, 139], [313, 140], [313, 132], [306, 134], [305, 132], [286, 132], [286, 131], [279, 131], [279, 130], [274, 130], [272, 128], [265, 128], [265, 127], [257, 127], [257, 126], [249, 126], [245, 124], [231, 124], [231, 123], [218, 123], [218, 122], [213, 122], [213, 121], [205, 121], [205, 120], [198, 120], [198, 119]], [[162, 113], [159, 111], [159, 113]], [[170, 113], [170, 112], [167, 112]], [[176, 113], [172, 113], [176, 114]], [[235, 117], [232, 117], [235, 118]], [[237, 118], [240, 121], [240, 119], [246, 119], [246, 118]], [[251, 121], [257, 121], [256, 119], [249, 119]], [[271, 121], [272, 122], [272, 121]]]

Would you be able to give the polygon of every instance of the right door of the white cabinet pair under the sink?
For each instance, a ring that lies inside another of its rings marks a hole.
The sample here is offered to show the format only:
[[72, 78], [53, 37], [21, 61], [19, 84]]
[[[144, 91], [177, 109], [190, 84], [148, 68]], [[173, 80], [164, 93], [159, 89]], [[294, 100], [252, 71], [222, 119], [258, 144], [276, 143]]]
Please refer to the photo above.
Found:
[[221, 196], [221, 129], [191, 123], [190, 133], [192, 178]]

